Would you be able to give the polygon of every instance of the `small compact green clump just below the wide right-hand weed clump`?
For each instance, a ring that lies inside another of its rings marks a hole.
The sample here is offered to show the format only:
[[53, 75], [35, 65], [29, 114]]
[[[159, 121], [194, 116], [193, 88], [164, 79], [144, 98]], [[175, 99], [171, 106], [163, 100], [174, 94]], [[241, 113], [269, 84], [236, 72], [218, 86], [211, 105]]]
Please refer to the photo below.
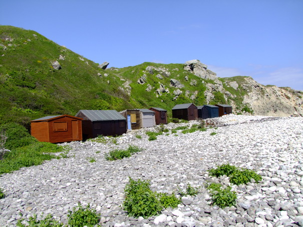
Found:
[[236, 204], [237, 195], [235, 191], [231, 191], [230, 186], [223, 188], [220, 183], [211, 183], [207, 186], [207, 189], [212, 197], [212, 205], [224, 208]]

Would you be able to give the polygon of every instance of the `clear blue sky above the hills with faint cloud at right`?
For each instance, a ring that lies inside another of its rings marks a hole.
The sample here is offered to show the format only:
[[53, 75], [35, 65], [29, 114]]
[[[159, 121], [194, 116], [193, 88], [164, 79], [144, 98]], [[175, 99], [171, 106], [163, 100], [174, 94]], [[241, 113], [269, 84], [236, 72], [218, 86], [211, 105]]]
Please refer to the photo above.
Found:
[[0, 24], [109, 67], [199, 59], [219, 77], [303, 90], [303, 0], [1, 0]]

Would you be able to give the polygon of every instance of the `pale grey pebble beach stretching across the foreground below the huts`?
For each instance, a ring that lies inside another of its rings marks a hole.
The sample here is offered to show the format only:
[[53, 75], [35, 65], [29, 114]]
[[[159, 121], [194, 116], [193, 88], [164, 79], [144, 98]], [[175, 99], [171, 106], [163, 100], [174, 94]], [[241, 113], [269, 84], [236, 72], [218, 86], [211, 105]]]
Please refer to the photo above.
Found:
[[[0, 177], [6, 194], [0, 199], [0, 226], [16, 226], [20, 212], [23, 218], [51, 213], [66, 223], [68, 210], [79, 201], [102, 214], [102, 226], [303, 226], [303, 118], [230, 114], [217, 119], [217, 128], [186, 134], [179, 130], [177, 136], [169, 131], [153, 141], [145, 131], [157, 127], [129, 131], [106, 143], [63, 143], [72, 148], [69, 158]], [[143, 151], [122, 160], [105, 159], [105, 153], [130, 144]], [[210, 205], [204, 185], [229, 184], [228, 177], [211, 177], [207, 171], [227, 162], [254, 169], [262, 181], [232, 185], [237, 204], [221, 209]], [[149, 179], [157, 192], [176, 193], [187, 183], [200, 186], [200, 192], [182, 197], [178, 208], [158, 216], [129, 217], [121, 207], [129, 176]]]

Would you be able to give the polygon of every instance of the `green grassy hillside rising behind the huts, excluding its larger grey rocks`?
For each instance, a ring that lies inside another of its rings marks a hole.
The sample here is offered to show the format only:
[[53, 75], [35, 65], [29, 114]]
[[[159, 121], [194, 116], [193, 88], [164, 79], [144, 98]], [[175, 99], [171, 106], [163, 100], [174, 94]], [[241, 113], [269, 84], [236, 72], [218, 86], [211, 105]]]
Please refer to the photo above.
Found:
[[[144, 62], [125, 68], [101, 69], [98, 63], [60, 46], [43, 35], [13, 26], [0, 26], [0, 121], [18, 122], [29, 128], [30, 120], [45, 115], [76, 114], [79, 109], [116, 109], [157, 106], [170, 110], [175, 104], [194, 102], [205, 104], [203, 80], [183, 70], [183, 64], [158, 64]], [[64, 59], [60, 59], [60, 55]], [[52, 67], [57, 60], [62, 68]], [[170, 75], [154, 70], [145, 71], [147, 66], [167, 69]], [[99, 73], [99, 75], [98, 75]], [[147, 75], [145, 84], [137, 80]], [[188, 76], [188, 80], [184, 77]], [[176, 100], [169, 86], [170, 79], [178, 79], [185, 85]], [[197, 80], [190, 85], [191, 79]], [[125, 82], [131, 93], [128, 94]], [[160, 82], [169, 93], [157, 97]], [[146, 91], [147, 84], [153, 89]], [[185, 95], [187, 90], [188, 95]], [[198, 92], [192, 100], [193, 92]]]

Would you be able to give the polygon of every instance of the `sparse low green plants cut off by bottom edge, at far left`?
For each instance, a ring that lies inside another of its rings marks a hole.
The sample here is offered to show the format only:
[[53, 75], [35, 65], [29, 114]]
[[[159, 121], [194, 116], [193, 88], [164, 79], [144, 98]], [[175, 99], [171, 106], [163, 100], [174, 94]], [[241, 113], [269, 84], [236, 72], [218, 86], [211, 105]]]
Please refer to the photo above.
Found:
[[[42, 216], [41, 216], [42, 217]], [[19, 219], [17, 222], [18, 227], [62, 227], [63, 224], [54, 219], [52, 214], [48, 214], [45, 218], [41, 220], [37, 220], [37, 214], [31, 216], [29, 220], [27, 220], [28, 224], [23, 224], [24, 218]]]

